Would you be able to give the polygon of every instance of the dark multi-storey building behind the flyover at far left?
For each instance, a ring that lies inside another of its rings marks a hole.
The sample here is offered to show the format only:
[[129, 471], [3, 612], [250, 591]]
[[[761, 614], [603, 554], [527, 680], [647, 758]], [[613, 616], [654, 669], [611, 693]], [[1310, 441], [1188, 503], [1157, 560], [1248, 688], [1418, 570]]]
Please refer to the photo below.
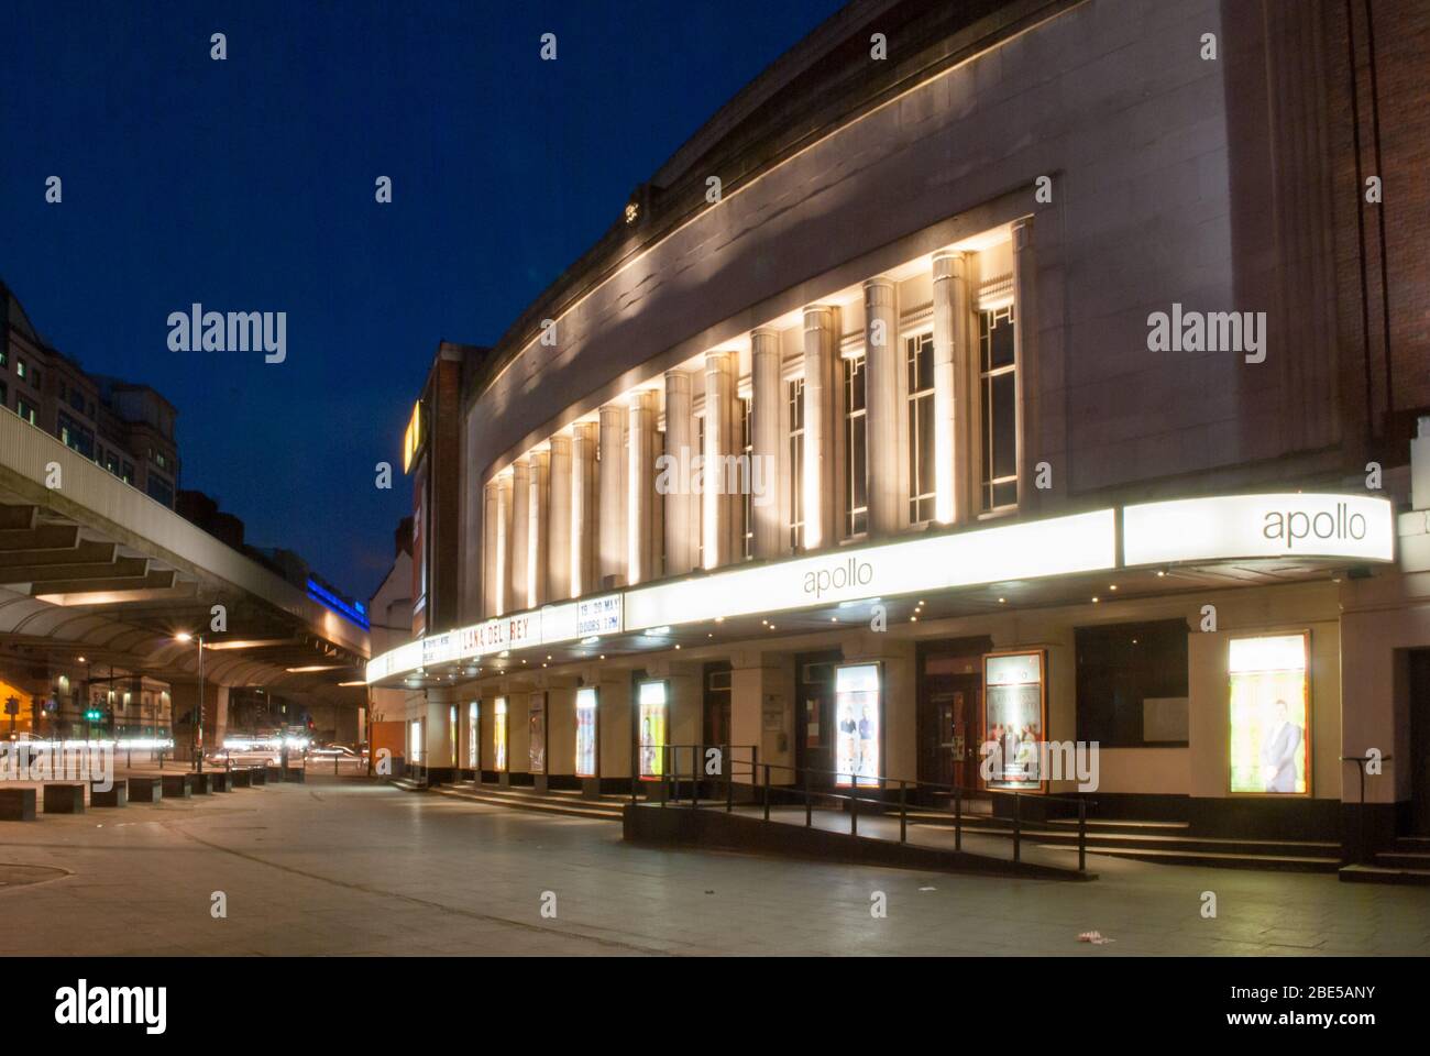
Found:
[[0, 405], [156, 502], [174, 505], [179, 412], [173, 404], [147, 385], [86, 373], [40, 336], [3, 282]]

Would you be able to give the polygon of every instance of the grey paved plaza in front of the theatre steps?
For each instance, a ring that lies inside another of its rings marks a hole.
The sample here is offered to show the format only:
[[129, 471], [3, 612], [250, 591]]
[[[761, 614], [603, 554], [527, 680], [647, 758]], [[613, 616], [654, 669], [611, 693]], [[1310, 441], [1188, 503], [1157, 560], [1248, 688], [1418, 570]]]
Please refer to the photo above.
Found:
[[[0, 823], [0, 954], [1430, 953], [1430, 889], [1090, 869], [1058, 883], [636, 847], [611, 821], [313, 774]], [[1113, 942], [1080, 943], [1091, 930]]]

